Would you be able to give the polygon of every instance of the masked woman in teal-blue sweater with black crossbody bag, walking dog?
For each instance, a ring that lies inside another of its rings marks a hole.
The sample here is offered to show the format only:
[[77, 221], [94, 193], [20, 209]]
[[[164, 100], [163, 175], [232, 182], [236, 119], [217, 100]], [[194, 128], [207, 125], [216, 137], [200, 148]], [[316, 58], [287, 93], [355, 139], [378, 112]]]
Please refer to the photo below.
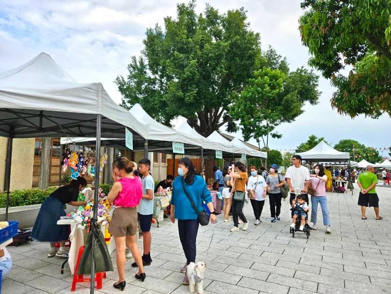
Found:
[[179, 159], [178, 175], [173, 182], [171, 221], [175, 223], [175, 219], [178, 220], [179, 239], [186, 256], [186, 264], [180, 270], [185, 273], [182, 284], [189, 285], [186, 270], [191, 262], [195, 262], [195, 240], [197, 238], [199, 221], [197, 213], [183, 190], [182, 181], [187, 194], [192, 198], [198, 211], [204, 209], [205, 202], [211, 211], [212, 223], [216, 222], [216, 213], [213, 208], [211, 193], [204, 179], [195, 175], [195, 167], [189, 158], [184, 157]]

